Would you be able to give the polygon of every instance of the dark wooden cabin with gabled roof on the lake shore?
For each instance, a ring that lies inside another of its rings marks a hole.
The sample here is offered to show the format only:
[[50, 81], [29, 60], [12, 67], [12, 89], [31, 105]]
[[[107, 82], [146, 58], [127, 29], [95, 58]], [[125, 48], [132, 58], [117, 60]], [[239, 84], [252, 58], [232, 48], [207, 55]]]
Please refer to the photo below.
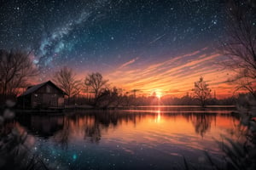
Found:
[[22, 108], [64, 107], [65, 95], [61, 88], [48, 81], [28, 87], [18, 98], [18, 103]]

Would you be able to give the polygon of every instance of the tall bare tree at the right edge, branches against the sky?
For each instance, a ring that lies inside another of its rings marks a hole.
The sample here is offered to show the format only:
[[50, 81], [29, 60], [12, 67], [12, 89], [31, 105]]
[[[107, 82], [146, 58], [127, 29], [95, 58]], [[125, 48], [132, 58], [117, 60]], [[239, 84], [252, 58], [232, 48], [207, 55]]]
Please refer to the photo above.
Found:
[[234, 71], [236, 90], [246, 89], [256, 99], [256, 13], [253, 1], [232, 0], [227, 9], [228, 24], [221, 52], [229, 59], [222, 64]]

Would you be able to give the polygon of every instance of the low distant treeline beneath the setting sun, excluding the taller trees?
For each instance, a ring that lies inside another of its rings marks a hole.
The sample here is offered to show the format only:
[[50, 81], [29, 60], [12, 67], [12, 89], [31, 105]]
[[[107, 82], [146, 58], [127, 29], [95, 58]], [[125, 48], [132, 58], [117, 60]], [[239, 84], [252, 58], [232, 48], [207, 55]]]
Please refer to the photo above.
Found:
[[[236, 105], [236, 101], [245, 94], [239, 94], [237, 97], [229, 97], [224, 99], [209, 98], [206, 100], [206, 105]], [[73, 96], [70, 99], [70, 105], [93, 105], [93, 98], [88, 98], [86, 95]], [[201, 101], [190, 95], [183, 97], [169, 97], [163, 96], [158, 98], [156, 96], [138, 96], [127, 94], [115, 94], [109, 92], [101, 95], [96, 106], [102, 108], [108, 107], [122, 107], [122, 106], [140, 106], [140, 105], [201, 105]]]

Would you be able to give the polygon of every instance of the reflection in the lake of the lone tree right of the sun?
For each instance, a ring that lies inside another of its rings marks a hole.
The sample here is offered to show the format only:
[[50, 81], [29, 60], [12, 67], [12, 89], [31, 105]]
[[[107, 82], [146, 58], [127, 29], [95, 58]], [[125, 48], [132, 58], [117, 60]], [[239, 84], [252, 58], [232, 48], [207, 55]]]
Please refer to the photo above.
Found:
[[211, 129], [211, 122], [212, 116], [206, 116], [204, 113], [195, 115], [195, 119], [192, 117], [192, 124], [195, 127], [195, 133], [200, 134], [201, 137]]

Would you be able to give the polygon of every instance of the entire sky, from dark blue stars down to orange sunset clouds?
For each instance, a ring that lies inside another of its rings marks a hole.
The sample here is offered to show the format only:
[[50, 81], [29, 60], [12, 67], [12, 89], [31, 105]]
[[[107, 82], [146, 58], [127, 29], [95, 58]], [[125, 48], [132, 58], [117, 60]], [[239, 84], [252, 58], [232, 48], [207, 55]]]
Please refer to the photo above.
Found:
[[232, 94], [214, 65], [224, 37], [223, 0], [1, 0], [0, 48], [32, 51], [38, 81], [67, 65], [84, 79], [99, 71], [142, 94], [183, 95], [205, 77]]

